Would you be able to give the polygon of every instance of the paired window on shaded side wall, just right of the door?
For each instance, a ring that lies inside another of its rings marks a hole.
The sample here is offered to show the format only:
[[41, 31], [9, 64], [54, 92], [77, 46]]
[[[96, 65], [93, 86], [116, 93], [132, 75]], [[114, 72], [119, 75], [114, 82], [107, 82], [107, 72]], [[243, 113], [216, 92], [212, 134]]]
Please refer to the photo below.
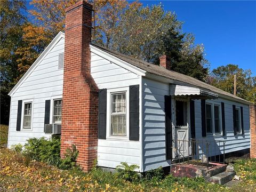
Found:
[[220, 134], [220, 106], [213, 103], [206, 103], [206, 133]]

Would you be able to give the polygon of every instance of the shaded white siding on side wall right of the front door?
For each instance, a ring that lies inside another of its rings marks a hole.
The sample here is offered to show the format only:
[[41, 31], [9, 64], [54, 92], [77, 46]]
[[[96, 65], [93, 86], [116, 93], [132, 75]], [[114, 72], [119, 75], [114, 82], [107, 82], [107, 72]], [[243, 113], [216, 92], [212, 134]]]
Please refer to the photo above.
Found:
[[[216, 99], [212, 100], [214, 103], [221, 105], [221, 102], [225, 103], [225, 125], [226, 125], [226, 135], [222, 136], [222, 134], [217, 135], [207, 135], [207, 137], [202, 138], [202, 121], [201, 121], [201, 100], [195, 100], [195, 127], [196, 127], [196, 139], [204, 139], [211, 141], [211, 145], [209, 146], [209, 153], [214, 155], [214, 141], [226, 141], [225, 143], [225, 153], [231, 153], [233, 151], [242, 150], [250, 148], [250, 120], [249, 120], [249, 106], [243, 105], [238, 102], [229, 101], [226, 99]], [[206, 100], [207, 102], [207, 100]], [[232, 105], [236, 105], [237, 107], [243, 107], [243, 115], [244, 115], [244, 135], [237, 134], [234, 135], [233, 131], [233, 107]], [[222, 125], [221, 125], [222, 126]], [[219, 145], [218, 142], [215, 142], [216, 145]], [[222, 143], [220, 143], [221, 150], [217, 150], [217, 154], [223, 153]], [[216, 146], [215, 146], [216, 147]], [[217, 147], [218, 148], [218, 147]], [[219, 152], [219, 153], [218, 153]]]

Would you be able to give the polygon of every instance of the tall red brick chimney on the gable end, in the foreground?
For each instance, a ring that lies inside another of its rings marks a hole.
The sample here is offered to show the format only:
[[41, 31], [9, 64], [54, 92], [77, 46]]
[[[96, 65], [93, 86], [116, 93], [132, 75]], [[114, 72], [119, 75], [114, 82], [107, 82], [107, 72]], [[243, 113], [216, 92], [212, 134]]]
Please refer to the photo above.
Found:
[[89, 171], [98, 146], [98, 87], [90, 74], [92, 5], [79, 1], [65, 11], [61, 156], [74, 144], [77, 163]]

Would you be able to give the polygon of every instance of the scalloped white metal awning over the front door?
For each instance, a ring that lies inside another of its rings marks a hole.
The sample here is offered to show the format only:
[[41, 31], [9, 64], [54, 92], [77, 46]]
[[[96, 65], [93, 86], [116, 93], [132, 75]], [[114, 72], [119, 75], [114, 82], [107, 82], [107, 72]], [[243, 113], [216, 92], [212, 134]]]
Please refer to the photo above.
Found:
[[170, 95], [189, 96], [193, 99], [217, 99], [218, 94], [199, 89], [197, 87], [189, 87], [182, 85], [170, 85]]

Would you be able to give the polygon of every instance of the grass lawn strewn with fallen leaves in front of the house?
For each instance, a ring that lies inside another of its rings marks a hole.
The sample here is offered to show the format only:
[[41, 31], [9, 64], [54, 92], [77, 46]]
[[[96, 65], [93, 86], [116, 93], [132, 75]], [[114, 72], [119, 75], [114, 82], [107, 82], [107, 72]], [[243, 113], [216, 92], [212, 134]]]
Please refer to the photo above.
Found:
[[12, 150], [1, 149], [0, 191], [255, 191], [256, 159], [235, 163], [242, 182], [234, 188], [226, 188], [204, 182], [202, 178], [164, 179], [153, 177], [129, 182], [117, 173], [103, 172], [95, 167], [90, 173], [75, 168], [62, 171], [55, 166], [31, 161]]

